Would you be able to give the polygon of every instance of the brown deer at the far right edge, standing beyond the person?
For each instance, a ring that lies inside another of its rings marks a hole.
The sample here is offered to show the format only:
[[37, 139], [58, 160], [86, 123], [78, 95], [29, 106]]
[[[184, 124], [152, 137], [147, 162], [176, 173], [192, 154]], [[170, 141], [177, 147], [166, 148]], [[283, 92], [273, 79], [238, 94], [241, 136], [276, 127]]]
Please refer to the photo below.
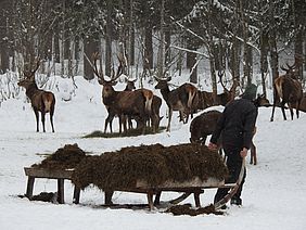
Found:
[[286, 120], [284, 105], [288, 104], [291, 119], [293, 119], [293, 106], [296, 108], [296, 117], [299, 116], [299, 104], [303, 98], [302, 85], [296, 78], [295, 64], [288, 68], [281, 67], [285, 71], [284, 75], [281, 75], [275, 79], [273, 82], [273, 108], [271, 114], [271, 122], [273, 122], [276, 105], [280, 102], [283, 119]]

